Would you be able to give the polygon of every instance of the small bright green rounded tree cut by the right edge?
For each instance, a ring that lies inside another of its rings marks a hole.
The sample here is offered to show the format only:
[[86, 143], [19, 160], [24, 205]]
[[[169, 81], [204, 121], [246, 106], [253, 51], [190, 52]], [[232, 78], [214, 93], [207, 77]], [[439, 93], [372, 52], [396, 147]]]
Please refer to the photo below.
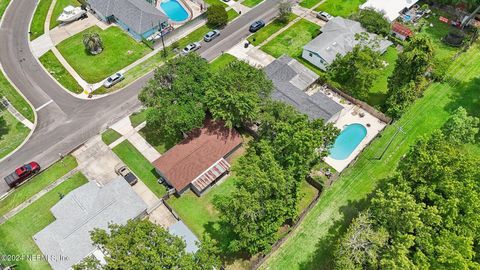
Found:
[[480, 127], [478, 117], [469, 116], [467, 110], [459, 107], [442, 128], [447, 139], [454, 144], [475, 143]]

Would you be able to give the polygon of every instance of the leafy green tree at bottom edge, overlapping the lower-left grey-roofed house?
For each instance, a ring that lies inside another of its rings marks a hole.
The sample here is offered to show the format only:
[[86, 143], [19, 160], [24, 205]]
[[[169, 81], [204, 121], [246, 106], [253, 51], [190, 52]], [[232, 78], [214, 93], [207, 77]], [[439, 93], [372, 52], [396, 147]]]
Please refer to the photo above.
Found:
[[75, 269], [219, 269], [220, 261], [211, 240], [195, 254], [187, 253], [183, 239], [148, 220], [110, 224], [108, 232], [92, 231], [91, 239], [105, 254], [106, 265], [87, 258]]

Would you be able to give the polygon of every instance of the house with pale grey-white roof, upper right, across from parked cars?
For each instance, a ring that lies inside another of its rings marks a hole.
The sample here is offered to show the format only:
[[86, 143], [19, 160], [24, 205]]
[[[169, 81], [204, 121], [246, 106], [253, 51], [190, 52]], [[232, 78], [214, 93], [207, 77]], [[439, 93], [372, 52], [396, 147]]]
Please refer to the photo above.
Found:
[[362, 42], [360, 34], [366, 34], [363, 41], [373, 50], [383, 54], [392, 42], [368, 33], [357, 21], [335, 17], [322, 27], [322, 33], [303, 47], [302, 57], [326, 71], [338, 55], [344, 56]]

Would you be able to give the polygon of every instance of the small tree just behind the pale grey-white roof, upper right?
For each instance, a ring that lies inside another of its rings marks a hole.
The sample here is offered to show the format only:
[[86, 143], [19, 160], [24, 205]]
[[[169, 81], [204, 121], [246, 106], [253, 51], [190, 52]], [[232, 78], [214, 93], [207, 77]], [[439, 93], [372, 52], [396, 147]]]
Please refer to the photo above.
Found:
[[390, 33], [390, 22], [385, 18], [385, 14], [375, 9], [362, 9], [354, 15], [353, 19], [360, 22], [368, 32], [382, 36], [387, 36]]

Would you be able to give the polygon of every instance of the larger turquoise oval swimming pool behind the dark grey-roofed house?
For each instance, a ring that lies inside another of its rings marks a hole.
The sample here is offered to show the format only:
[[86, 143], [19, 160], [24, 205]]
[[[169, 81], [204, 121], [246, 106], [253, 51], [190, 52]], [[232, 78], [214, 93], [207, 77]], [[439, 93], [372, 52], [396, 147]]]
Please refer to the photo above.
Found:
[[335, 140], [330, 150], [330, 157], [336, 160], [347, 159], [365, 136], [367, 136], [367, 128], [362, 124], [348, 125]]

